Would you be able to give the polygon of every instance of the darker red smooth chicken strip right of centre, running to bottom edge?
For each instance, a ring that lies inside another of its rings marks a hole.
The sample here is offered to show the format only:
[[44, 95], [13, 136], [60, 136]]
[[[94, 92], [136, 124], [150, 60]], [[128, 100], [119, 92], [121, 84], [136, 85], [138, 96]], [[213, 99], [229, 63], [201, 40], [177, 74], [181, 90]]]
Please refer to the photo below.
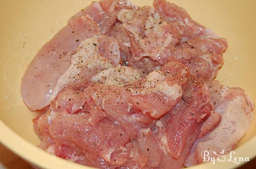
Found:
[[201, 126], [212, 111], [207, 86], [188, 80], [182, 99], [158, 122], [161, 162], [158, 169], [182, 168]]

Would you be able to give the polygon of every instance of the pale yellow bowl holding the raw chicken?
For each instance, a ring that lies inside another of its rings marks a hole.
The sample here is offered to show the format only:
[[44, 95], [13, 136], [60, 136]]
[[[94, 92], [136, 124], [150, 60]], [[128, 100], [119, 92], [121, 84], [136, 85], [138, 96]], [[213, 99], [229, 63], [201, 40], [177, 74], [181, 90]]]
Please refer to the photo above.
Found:
[[[152, 0], [131, 0], [139, 6]], [[39, 149], [30, 112], [20, 99], [20, 79], [35, 54], [67, 20], [92, 0], [3, 0], [0, 6], [0, 142], [26, 161], [45, 169], [85, 169]], [[229, 48], [218, 73], [224, 85], [242, 87], [256, 103], [256, 1], [172, 0], [199, 23], [227, 38]], [[256, 118], [237, 144], [236, 157], [256, 156]], [[226, 157], [228, 158], [228, 156]], [[234, 168], [233, 162], [204, 163], [194, 168]]]

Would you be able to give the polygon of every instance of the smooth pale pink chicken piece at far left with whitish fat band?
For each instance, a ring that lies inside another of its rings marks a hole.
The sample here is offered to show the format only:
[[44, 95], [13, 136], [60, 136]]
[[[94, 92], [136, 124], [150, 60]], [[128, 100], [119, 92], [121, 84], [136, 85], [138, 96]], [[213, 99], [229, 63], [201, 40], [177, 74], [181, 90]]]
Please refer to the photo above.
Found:
[[[59, 54], [55, 49], [52, 54], [44, 56], [41, 51], [48, 54], [48, 44], [35, 56], [21, 83], [23, 100], [32, 110], [41, 110], [48, 106], [62, 89], [83, 88], [96, 73], [119, 64], [120, 52], [115, 39], [100, 34], [80, 39], [74, 40], [81, 42], [66, 55]], [[35, 70], [32, 71], [32, 68]], [[41, 97], [34, 99], [32, 96], [36, 95]]]

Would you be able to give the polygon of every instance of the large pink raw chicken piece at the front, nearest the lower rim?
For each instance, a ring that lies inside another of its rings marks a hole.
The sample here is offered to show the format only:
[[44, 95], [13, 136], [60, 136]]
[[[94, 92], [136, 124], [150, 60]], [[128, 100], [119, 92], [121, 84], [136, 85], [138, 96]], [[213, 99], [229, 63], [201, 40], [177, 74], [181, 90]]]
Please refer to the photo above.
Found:
[[[98, 166], [100, 157], [108, 168], [182, 167], [213, 110], [207, 86], [188, 79], [186, 70], [179, 62], [169, 62], [138, 82], [121, 87], [105, 81], [104, 85], [91, 84], [83, 92], [65, 90], [45, 115], [35, 119], [35, 127], [41, 131], [41, 147], [90, 166]], [[112, 147], [99, 142], [103, 136], [106, 142], [113, 139], [108, 130], [99, 129], [102, 122], [114, 125], [115, 132], [120, 133], [113, 133], [117, 142]], [[94, 130], [102, 133], [94, 135]], [[68, 152], [72, 154], [64, 155]]]

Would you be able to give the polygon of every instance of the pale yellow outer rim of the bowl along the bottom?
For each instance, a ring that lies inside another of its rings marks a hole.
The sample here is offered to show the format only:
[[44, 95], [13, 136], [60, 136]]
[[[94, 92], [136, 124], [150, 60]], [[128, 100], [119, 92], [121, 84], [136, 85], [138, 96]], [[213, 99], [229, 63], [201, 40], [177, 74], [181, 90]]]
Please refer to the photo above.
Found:
[[[41, 169], [52, 169], [52, 168], [76, 168], [76, 169], [94, 169], [90, 166], [84, 166], [78, 163], [73, 163], [71, 161], [52, 156], [49, 153], [45, 152], [44, 150], [40, 149], [39, 147], [35, 146], [34, 144], [26, 141], [16, 132], [11, 130], [3, 121], [0, 120], [0, 142], [10, 149], [12, 152], [23, 158], [25, 161], [33, 164]], [[253, 138], [250, 138], [245, 144], [237, 147], [235, 150], [236, 155], [239, 157], [249, 157], [249, 159], [253, 159], [256, 157], [256, 152], [251, 151], [252, 149], [256, 149], [256, 135]], [[230, 155], [227, 155], [229, 158]], [[46, 162], [47, 161], [47, 162]], [[195, 165], [189, 167], [191, 169], [205, 169], [211, 162], [201, 163], [199, 165]], [[232, 163], [232, 162], [219, 162], [216, 161], [214, 167], [220, 168], [237, 168], [241, 165], [246, 163], [246, 161], [242, 161], [239, 164]], [[213, 164], [212, 164], [213, 166]]]

